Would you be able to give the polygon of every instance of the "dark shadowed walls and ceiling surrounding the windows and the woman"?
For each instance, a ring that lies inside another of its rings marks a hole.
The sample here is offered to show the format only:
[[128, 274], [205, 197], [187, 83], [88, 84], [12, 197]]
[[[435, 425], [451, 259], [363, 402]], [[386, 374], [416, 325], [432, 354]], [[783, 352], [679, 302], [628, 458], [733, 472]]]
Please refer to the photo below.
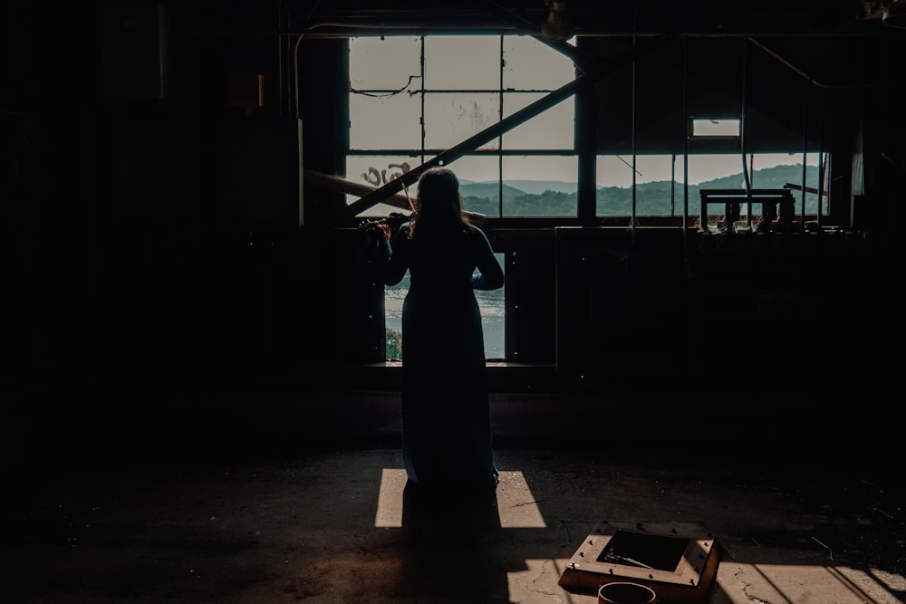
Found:
[[[906, 34], [884, 14], [898, 4], [568, 3], [564, 52], [589, 76], [569, 91], [580, 158], [682, 153], [689, 116], [738, 108], [744, 88], [749, 149], [826, 150], [830, 202], [782, 254], [706, 249], [682, 216], [593, 216], [582, 177], [577, 216], [487, 220], [507, 272], [506, 358], [488, 364], [500, 443], [570, 443], [643, 401], [644, 429], [680, 445], [741, 421], [887, 467]], [[400, 367], [384, 356], [373, 242], [341, 191], [306, 177], [342, 177], [346, 40], [537, 36], [545, 3], [3, 14], [0, 373], [15, 454], [34, 455], [36, 435], [73, 455], [144, 455], [159, 438], [203, 449], [199, 436], [239, 450], [249, 422], [289, 442], [395, 445]], [[263, 76], [254, 110], [248, 74]]]

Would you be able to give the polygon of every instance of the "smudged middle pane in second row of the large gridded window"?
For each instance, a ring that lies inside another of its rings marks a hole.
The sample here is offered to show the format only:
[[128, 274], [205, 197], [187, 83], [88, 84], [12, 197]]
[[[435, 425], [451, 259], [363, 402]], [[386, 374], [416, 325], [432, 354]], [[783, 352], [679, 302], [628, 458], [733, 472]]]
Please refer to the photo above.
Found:
[[[425, 95], [425, 148], [449, 149], [499, 121], [499, 95], [490, 92]], [[478, 149], [497, 149], [492, 139]]]

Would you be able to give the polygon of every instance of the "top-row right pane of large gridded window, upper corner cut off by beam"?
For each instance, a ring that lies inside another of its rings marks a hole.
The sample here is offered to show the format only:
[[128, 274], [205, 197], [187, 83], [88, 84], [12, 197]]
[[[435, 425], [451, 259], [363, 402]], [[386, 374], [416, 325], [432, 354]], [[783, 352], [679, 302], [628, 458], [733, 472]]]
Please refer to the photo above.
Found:
[[504, 90], [553, 91], [575, 79], [573, 61], [530, 36], [504, 36]]

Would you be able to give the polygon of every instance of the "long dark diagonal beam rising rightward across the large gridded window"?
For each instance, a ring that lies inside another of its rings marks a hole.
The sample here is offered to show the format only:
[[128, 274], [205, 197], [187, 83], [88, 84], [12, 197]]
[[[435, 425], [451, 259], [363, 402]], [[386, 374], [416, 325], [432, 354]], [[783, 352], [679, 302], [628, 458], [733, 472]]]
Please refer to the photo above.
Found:
[[518, 126], [519, 124], [527, 120], [531, 120], [542, 111], [554, 107], [554, 105], [556, 105], [558, 102], [564, 101], [564, 99], [573, 96], [573, 94], [575, 94], [576, 91], [578, 91], [586, 81], [600, 80], [605, 75], [615, 72], [621, 67], [631, 63], [632, 61], [635, 61], [642, 53], [650, 52], [653, 47], [653, 43], [640, 44], [638, 46], [634, 46], [628, 53], [623, 53], [621, 56], [607, 61], [606, 63], [599, 63], [593, 69], [590, 69], [582, 75], [579, 75], [575, 80], [564, 84], [555, 91], [549, 92], [544, 97], [529, 105], [526, 105], [521, 110], [516, 111], [516, 113], [514, 113], [513, 115], [496, 122], [496, 124], [488, 126], [486, 129], [483, 129], [476, 134], [473, 134], [468, 139], [463, 140], [462, 142], [451, 147], [450, 149], [447, 149], [446, 151], [442, 151], [420, 166], [412, 168], [406, 174], [390, 180], [390, 182], [383, 185], [382, 187], [374, 189], [365, 197], [361, 197], [361, 199], [353, 201], [348, 206], [345, 206], [344, 211], [350, 217], [358, 216], [359, 214], [361, 214], [361, 212], [364, 212], [365, 210], [381, 203], [381, 201], [383, 201], [387, 197], [399, 193], [402, 190], [403, 186], [409, 187], [410, 185], [415, 183], [419, 179], [421, 174], [429, 168], [434, 168], [435, 166], [440, 165], [447, 165], [455, 161], [456, 159], [461, 158], [469, 151], [477, 149], [478, 147], [484, 145], [492, 139], [496, 139], [496, 137], [502, 135], [508, 130], [516, 128], [516, 126]]

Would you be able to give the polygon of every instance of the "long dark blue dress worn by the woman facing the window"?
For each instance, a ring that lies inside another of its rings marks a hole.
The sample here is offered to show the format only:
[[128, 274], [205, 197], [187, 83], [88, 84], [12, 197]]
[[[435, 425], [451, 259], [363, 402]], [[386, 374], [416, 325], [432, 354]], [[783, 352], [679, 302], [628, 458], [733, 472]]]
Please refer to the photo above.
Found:
[[401, 225], [385, 245], [384, 264], [388, 285], [400, 283], [410, 272], [402, 306], [406, 471], [412, 483], [426, 488], [493, 488], [498, 474], [492, 459], [484, 333], [474, 290], [502, 287], [504, 273], [480, 229], [468, 234], [423, 232], [410, 239], [409, 227]]

